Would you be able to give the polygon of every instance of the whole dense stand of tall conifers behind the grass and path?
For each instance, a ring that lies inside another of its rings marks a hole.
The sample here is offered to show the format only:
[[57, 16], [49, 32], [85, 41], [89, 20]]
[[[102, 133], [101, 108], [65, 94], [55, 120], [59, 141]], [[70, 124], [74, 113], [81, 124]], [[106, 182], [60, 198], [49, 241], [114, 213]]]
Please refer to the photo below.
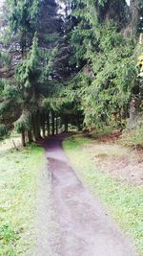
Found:
[[143, 3], [5, 0], [0, 137], [26, 145], [69, 124], [143, 133]]

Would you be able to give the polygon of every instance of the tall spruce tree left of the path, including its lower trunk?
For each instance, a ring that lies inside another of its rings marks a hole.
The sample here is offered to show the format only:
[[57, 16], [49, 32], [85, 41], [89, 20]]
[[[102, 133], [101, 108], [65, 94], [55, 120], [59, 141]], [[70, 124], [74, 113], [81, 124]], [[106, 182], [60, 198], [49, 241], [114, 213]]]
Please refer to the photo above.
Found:
[[[2, 97], [0, 106], [2, 119], [8, 125], [10, 106], [12, 106], [13, 119], [10, 119], [10, 128], [14, 127], [22, 133], [22, 143], [25, 146], [25, 136], [28, 134], [29, 141], [32, 140], [32, 134], [36, 140], [41, 136], [41, 127], [45, 128], [44, 117], [48, 110], [42, 107], [42, 99], [51, 93], [51, 76], [52, 62], [56, 54], [56, 47], [51, 48], [51, 41], [47, 42], [47, 33], [52, 37], [52, 43], [56, 46], [57, 36], [52, 35], [60, 30], [60, 25], [55, 29], [57, 17], [55, 9], [56, 5], [50, 1], [8, 1], [10, 4], [10, 13], [8, 15], [8, 24], [11, 32], [14, 32], [12, 38], [10, 69], [12, 62], [12, 74], [10, 78], [14, 83], [14, 107], [11, 105], [11, 97], [9, 99]], [[48, 13], [45, 12], [48, 10]], [[43, 15], [43, 13], [46, 13]], [[54, 18], [51, 20], [49, 13]], [[37, 17], [41, 15], [43, 34], [41, 34], [41, 23], [37, 24]], [[47, 22], [49, 23], [47, 24]], [[54, 31], [51, 31], [51, 26]], [[37, 33], [35, 33], [37, 30]], [[15, 55], [14, 48], [18, 45], [18, 54]], [[7, 52], [7, 49], [6, 49]], [[16, 57], [16, 61], [15, 61]], [[14, 61], [13, 61], [14, 59]], [[15, 74], [14, 74], [14, 70]], [[8, 74], [8, 70], [6, 70]], [[8, 75], [7, 75], [8, 76]], [[4, 88], [3, 88], [4, 89]], [[3, 91], [4, 93], [4, 91]], [[8, 93], [7, 93], [8, 96]], [[8, 107], [6, 107], [6, 106]], [[4, 107], [5, 106], [5, 107]], [[18, 109], [18, 111], [16, 110]], [[29, 124], [28, 124], [29, 123]]]

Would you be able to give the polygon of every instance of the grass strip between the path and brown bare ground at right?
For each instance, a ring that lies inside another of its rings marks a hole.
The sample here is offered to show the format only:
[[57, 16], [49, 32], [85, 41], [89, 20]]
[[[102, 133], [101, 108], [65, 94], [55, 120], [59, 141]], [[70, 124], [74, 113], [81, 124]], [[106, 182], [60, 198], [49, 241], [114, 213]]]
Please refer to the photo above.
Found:
[[89, 185], [92, 192], [106, 205], [109, 214], [136, 244], [138, 255], [143, 255], [143, 189], [129, 186], [100, 172], [88, 153], [82, 148], [90, 143], [86, 138], [70, 138], [63, 143], [77, 175]]

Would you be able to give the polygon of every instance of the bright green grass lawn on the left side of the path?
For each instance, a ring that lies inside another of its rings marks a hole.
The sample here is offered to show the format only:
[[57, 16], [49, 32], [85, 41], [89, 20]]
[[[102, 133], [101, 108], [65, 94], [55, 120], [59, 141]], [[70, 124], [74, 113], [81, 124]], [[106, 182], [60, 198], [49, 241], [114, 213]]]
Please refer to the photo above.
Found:
[[27, 255], [34, 244], [36, 191], [43, 161], [44, 151], [36, 146], [0, 153], [0, 256]]

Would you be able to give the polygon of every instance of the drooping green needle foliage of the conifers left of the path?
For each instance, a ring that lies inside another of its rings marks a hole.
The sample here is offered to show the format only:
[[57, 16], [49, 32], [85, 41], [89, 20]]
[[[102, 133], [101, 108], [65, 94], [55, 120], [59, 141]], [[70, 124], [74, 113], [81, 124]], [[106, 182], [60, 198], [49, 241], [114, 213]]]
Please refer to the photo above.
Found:
[[[9, 41], [10, 53], [8, 49], [5, 52], [10, 56], [10, 66], [8, 70], [2, 70], [2, 72], [4, 72], [4, 77], [7, 73], [10, 79], [0, 81], [0, 120], [6, 125], [9, 124], [9, 128], [13, 128], [14, 124], [16, 130], [22, 132], [30, 130], [31, 115], [36, 116], [37, 110], [40, 114], [44, 110], [48, 111], [43, 108], [42, 101], [50, 95], [53, 97], [53, 91], [56, 90], [55, 83], [57, 85], [57, 82], [51, 81], [51, 76], [53, 76], [53, 63], [57, 54], [56, 45], [59, 34], [56, 31], [53, 31], [51, 35], [47, 34], [47, 26], [42, 34], [38, 31], [41, 24], [37, 24], [37, 17], [45, 12], [45, 6], [48, 8], [46, 1], [39, 4], [37, 0], [20, 2], [8, 0], [6, 10], [8, 6], [10, 12], [7, 15], [7, 25], [9, 25], [12, 36]], [[54, 10], [55, 6], [53, 6]], [[52, 12], [51, 8], [50, 12]], [[41, 19], [47, 22], [46, 15], [46, 21], [43, 17]], [[48, 37], [47, 45], [41, 42], [41, 37], [43, 39], [45, 35]], [[51, 43], [54, 44], [53, 48]], [[1, 62], [3, 65], [6, 62], [4, 54], [0, 55], [0, 64]], [[14, 70], [15, 75], [13, 75]], [[26, 113], [28, 111], [25, 109], [29, 109], [29, 113]]]

